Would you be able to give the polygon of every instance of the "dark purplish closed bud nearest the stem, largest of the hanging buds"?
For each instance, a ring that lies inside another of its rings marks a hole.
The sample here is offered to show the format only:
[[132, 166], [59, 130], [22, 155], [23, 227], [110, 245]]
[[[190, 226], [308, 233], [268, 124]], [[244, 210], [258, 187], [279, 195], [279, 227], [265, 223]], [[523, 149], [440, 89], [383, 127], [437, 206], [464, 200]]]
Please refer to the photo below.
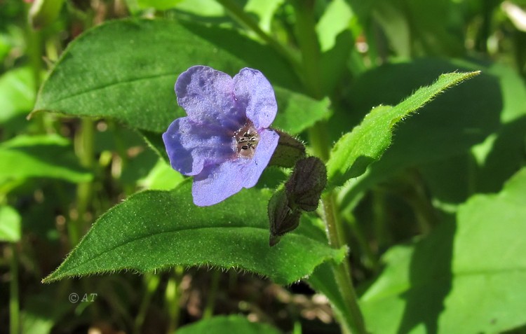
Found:
[[327, 169], [320, 159], [309, 157], [298, 160], [294, 172], [285, 183], [290, 207], [316, 210], [326, 185]]

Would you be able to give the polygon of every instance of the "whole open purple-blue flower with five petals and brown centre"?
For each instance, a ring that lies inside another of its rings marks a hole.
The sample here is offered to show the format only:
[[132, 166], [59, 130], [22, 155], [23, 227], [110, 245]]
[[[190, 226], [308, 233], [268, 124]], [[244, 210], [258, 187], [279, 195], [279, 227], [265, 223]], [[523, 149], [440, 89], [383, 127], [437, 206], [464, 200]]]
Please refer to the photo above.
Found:
[[269, 130], [278, 106], [263, 74], [242, 69], [234, 78], [211, 67], [190, 67], [175, 83], [187, 117], [163, 133], [173, 169], [194, 176], [192, 195], [201, 207], [255, 186], [278, 146]]

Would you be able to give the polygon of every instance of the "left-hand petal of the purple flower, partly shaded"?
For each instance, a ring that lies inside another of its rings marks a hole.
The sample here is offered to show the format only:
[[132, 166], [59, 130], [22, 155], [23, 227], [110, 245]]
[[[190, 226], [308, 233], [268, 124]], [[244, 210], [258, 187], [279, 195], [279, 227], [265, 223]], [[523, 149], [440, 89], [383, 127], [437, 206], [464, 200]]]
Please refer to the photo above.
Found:
[[201, 173], [205, 165], [215, 165], [235, 156], [235, 139], [218, 127], [177, 118], [163, 133], [173, 169], [184, 175]]

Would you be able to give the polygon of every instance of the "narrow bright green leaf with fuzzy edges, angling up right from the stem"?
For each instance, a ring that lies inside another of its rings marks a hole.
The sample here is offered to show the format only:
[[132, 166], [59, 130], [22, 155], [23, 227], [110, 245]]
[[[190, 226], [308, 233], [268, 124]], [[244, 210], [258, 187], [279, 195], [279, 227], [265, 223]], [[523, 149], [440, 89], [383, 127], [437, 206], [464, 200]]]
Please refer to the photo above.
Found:
[[342, 186], [352, 177], [360, 176], [371, 162], [378, 160], [391, 144], [393, 126], [410, 116], [443, 90], [480, 72], [442, 74], [432, 85], [419, 88], [396, 106], [378, 106], [365, 116], [352, 132], [337, 141], [327, 163], [330, 186]]

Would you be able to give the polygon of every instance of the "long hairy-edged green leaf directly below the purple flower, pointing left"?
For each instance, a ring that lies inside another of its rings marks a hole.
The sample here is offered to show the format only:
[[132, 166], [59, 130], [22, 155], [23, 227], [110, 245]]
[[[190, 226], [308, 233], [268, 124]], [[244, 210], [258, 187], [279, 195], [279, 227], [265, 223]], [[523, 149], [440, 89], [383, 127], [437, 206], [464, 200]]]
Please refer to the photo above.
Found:
[[290, 284], [325, 260], [344, 258], [345, 249], [332, 249], [298, 232], [269, 247], [269, 197], [268, 190], [252, 188], [213, 207], [197, 207], [190, 182], [170, 192], [137, 193], [102, 215], [44, 281], [115, 270], [212, 265]]

